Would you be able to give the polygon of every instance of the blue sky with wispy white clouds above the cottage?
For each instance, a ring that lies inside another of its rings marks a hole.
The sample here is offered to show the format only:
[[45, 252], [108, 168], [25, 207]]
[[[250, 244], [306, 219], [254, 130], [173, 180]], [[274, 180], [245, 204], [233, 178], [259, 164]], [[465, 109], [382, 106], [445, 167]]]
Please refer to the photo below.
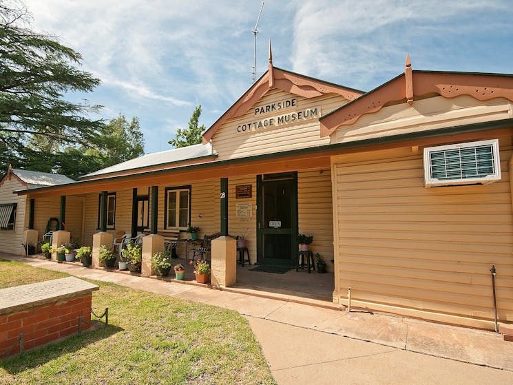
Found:
[[[171, 149], [197, 105], [208, 128], [251, 87], [261, 0], [24, 0], [32, 30], [81, 52], [101, 118], [137, 116], [145, 152]], [[404, 71], [513, 74], [510, 0], [266, 0], [256, 77], [273, 64], [370, 91]], [[98, 118], [98, 115], [92, 114]]]

